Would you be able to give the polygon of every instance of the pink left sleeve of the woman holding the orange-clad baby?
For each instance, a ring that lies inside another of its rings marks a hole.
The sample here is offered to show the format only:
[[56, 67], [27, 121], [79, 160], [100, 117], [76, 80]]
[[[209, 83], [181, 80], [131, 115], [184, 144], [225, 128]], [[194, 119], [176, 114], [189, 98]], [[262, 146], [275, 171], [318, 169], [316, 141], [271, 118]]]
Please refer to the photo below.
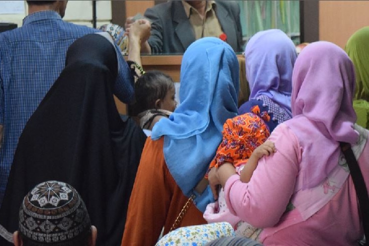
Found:
[[[231, 176], [224, 187], [229, 210], [258, 228], [278, 223], [295, 189], [302, 149], [284, 124], [270, 135], [276, 153], [259, 160], [250, 182]], [[247, 165], [247, 164], [246, 164]]]

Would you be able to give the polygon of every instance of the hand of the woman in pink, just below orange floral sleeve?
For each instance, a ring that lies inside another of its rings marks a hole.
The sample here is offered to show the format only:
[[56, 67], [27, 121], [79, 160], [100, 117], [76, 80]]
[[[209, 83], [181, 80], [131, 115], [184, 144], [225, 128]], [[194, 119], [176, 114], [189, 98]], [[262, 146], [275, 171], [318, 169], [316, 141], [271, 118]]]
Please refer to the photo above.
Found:
[[229, 162], [224, 163], [219, 168], [212, 168], [208, 174], [210, 188], [214, 199], [218, 199], [219, 185], [224, 187], [229, 177], [236, 174], [236, 169]]

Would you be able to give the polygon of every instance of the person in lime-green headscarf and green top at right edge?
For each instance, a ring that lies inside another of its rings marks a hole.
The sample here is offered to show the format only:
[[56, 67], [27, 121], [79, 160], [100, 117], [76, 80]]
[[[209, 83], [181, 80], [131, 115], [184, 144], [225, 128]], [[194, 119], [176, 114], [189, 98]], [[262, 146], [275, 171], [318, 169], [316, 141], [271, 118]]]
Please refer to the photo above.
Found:
[[357, 115], [356, 123], [369, 129], [369, 27], [356, 31], [347, 41], [345, 51], [355, 66], [353, 107]]

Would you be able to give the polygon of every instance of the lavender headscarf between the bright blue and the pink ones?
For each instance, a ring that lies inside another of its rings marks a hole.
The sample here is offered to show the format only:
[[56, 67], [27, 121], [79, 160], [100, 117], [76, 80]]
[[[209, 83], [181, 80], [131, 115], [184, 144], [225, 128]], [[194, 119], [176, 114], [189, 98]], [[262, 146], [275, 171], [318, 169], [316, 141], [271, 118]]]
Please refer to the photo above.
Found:
[[245, 57], [250, 99], [265, 95], [292, 116], [291, 81], [297, 58], [292, 40], [279, 29], [258, 32], [248, 41]]

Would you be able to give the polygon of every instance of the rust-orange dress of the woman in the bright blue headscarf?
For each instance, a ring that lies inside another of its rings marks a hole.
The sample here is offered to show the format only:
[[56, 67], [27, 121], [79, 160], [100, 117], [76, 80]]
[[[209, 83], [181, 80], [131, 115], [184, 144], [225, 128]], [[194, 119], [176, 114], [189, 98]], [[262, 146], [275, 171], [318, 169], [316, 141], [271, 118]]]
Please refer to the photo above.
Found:
[[[164, 227], [169, 232], [188, 198], [171, 176], [163, 154], [164, 137], [148, 138], [129, 201], [121, 245], [154, 245]], [[192, 203], [179, 226], [206, 224]]]

